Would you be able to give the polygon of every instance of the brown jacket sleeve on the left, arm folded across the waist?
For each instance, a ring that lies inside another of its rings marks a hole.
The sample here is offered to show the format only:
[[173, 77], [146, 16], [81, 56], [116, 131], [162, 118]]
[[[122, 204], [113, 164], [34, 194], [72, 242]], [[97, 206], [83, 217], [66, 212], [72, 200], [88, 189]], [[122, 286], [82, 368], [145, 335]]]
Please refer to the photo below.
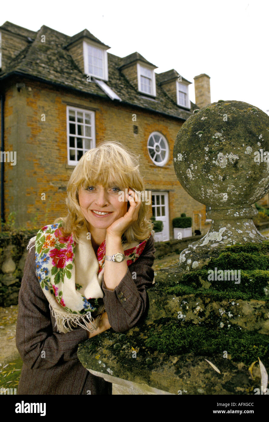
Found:
[[68, 333], [58, 333], [54, 331], [55, 319], [52, 318], [35, 273], [33, 247], [25, 262], [16, 325], [16, 347], [28, 368], [46, 369], [68, 360], [78, 360], [78, 344], [88, 338], [86, 330], [78, 327]]

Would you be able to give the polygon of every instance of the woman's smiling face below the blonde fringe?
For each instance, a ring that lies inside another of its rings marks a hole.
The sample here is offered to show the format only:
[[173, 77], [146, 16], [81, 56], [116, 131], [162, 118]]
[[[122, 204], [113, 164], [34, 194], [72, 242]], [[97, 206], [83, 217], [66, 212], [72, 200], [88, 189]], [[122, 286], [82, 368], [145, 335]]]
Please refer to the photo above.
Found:
[[[114, 221], [123, 217], [127, 212], [127, 201], [119, 201], [121, 189], [117, 184], [103, 187], [98, 184], [86, 189], [80, 188], [78, 200], [81, 212], [89, 223], [89, 230], [93, 227], [107, 229]], [[97, 214], [99, 211], [99, 214]], [[100, 212], [105, 213], [101, 214]]]

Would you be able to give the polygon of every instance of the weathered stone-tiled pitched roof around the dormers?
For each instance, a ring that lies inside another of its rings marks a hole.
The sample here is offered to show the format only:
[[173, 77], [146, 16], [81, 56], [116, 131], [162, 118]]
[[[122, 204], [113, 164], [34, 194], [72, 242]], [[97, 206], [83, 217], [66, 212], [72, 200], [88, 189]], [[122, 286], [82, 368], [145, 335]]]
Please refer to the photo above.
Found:
[[[13, 24], [5, 22], [4, 25], [6, 24], [8, 24], [8, 30], [11, 31]], [[16, 33], [15, 31], [18, 27], [17, 25], [13, 26], [14, 31], [12, 30], [12, 32]], [[2, 27], [0, 27], [0, 30]], [[27, 31], [25, 30], [25, 34]], [[28, 32], [28, 35], [30, 32]], [[89, 95], [97, 95], [98, 97], [112, 101], [98, 84], [94, 81], [86, 81], [85, 75], [81, 73], [78, 65], [65, 48], [73, 37], [53, 30], [46, 25], [43, 25], [40, 30], [35, 32], [35, 37], [32, 34], [30, 35], [31, 38], [35, 38], [34, 41], [29, 43], [24, 50], [8, 63], [5, 71], [0, 72], [0, 82], [14, 74], [19, 74], [57, 86], [60, 85], [68, 89], [75, 89]], [[41, 42], [41, 35], [46, 35], [46, 43]], [[141, 58], [144, 59], [139, 53], [133, 54], [136, 55], [135, 57], [139, 57], [139, 60]], [[133, 56], [133, 54], [129, 56]], [[123, 59], [125, 58], [108, 53], [109, 80], [105, 81], [108, 87], [113, 89], [118, 97], [121, 98], [121, 104], [141, 107], [183, 120], [188, 119], [194, 108], [198, 108], [193, 103], [191, 103], [190, 111], [177, 106], [175, 101], [159, 86], [160, 80], [158, 73], [155, 73], [156, 97], [152, 98], [140, 93], [121, 72]]]

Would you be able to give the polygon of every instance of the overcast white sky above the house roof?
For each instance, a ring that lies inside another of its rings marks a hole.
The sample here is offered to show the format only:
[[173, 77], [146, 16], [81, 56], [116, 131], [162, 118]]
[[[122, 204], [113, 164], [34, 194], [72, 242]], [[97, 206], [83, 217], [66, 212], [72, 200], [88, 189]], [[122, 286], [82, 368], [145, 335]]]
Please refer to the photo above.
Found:
[[157, 73], [177, 70], [193, 82], [193, 102], [193, 78], [207, 73], [211, 102], [240, 100], [269, 110], [268, 0], [5, 1], [0, 16], [1, 25], [34, 31], [47, 25], [75, 35], [87, 28], [112, 54], [138, 51]]

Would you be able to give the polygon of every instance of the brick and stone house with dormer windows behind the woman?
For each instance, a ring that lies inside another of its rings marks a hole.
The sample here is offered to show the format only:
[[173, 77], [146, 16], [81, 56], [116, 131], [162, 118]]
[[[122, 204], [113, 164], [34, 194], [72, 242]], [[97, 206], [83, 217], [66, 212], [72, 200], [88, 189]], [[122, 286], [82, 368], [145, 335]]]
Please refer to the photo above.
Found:
[[[205, 206], [181, 187], [173, 145], [195, 108], [210, 103], [209, 76], [191, 83], [176, 70], [156, 66], [135, 52], [108, 53], [88, 30], [70, 37], [43, 25], [37, 32], [11, 22], [0, 26], [1, 218], [16, 211], [16, 224], [39, 227], [66, 214], [66, 184], [82, 154], [100, 141], [117, 140], [140, 154], [149, 216], [164, 222], [185, 212], [202, 217]], [[3, 159], [2, 159], [3, 158]]]

